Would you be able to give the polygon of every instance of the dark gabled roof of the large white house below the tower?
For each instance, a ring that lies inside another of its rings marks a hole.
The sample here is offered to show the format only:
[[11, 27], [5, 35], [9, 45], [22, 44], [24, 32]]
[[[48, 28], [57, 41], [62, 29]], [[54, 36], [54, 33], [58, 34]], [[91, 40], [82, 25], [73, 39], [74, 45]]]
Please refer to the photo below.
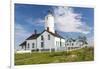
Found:
[[[37, 39], [42, 33], [44, 33], [44, 32], [48, 32], [48, 33], [50, 33], [51, 35], [53, 35], [53, 36], [55, 36], [55, 37], [58, 37], [58, 38], [62, 38], [62, 39], [64, 39], [62, 36], [60, 36], [58, 33], [52, 33], [52, 32], [50, 32], [50, 31], [48, 31], [48, 30], [44, 30], [44, 31], [42, 31], [41, 33], [39, 33], [39, 34], [32, 34], [30, 37], [28, 37], [26, 40], [32, 40], [32, 39]], [[20, 44], [20, 46], [21, 45], [25, 45], [26, 44], [26, 41], [24, 41], [23, 43], [21, 43]]]

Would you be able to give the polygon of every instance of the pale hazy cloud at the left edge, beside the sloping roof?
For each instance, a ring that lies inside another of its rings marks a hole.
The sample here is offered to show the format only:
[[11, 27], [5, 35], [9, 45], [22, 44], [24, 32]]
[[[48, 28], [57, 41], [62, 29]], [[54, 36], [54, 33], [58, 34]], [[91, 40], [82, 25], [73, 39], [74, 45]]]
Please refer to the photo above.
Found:
[[18, 46], [21, 42], [23, 42], [26, 37], [28, 37], [31, 33], [28, 32], [22, 25], [16, 23], [15, 24], [15, 46]]

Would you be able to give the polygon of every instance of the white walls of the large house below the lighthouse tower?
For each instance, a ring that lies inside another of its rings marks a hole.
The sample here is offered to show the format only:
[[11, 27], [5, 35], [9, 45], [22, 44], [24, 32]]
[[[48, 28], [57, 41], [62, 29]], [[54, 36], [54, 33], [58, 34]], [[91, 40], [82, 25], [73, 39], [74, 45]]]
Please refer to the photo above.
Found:
[[[50, 35], [50, 40], [48, 40], [48, 35]], [[43, 40], [41, 40], [41, 36], [43, 36]], [[61, 46], [60, 46], [60, 41], [61, 41]], [[41, 47], [41, 42], [44, 42], [44, 47]], [[56, 44], [58, 42], [58, 44]], [[28, 43], [29, 43], [29, 48], [28, 48]], [[32, 43], [34, 43], [34, 48], [32, 48]], [[60, 49], [64, 48], [65, 49], [65, 40], [60, 39], [58, 37], [54, 37], [47, 31], [42, 33], [37, 39], [33, 40], [27, 40], [26, 41], [26, 50], [33, 50], [33, 49]]]

